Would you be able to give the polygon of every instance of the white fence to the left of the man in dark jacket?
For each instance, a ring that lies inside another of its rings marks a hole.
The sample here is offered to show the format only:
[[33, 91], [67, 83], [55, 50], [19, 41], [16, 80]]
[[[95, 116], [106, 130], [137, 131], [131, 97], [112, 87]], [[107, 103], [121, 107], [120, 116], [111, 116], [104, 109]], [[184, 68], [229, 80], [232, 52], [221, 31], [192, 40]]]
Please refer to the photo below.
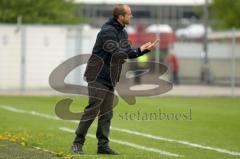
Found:
[[[0, 89], [49, 88], [51, 71], [69, 57], [90, 54], [97, 32], [85, 26], [0, 25]], [[83, 69], [66, 81], [81, 82]]]

